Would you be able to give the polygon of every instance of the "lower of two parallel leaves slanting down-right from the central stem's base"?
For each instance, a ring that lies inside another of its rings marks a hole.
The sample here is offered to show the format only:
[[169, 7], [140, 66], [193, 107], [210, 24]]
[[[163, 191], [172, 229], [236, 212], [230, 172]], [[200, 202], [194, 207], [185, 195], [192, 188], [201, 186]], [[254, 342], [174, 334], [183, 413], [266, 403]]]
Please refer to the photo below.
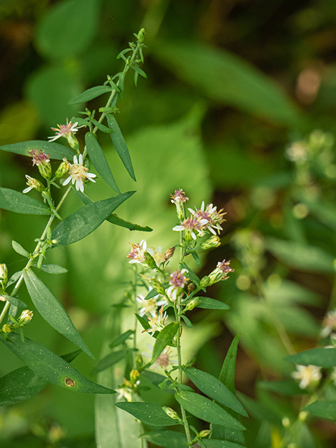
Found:
[[245, 429], [240, 421], [234, 419], [222, 407], [198, 393], [180, 391], [175, 393], [175, 398], [184, 409], [187, 409], [188, 412], [198, 417], [198, 419], [209, 421], [210, 423], [217, 423], [227, 428]]

